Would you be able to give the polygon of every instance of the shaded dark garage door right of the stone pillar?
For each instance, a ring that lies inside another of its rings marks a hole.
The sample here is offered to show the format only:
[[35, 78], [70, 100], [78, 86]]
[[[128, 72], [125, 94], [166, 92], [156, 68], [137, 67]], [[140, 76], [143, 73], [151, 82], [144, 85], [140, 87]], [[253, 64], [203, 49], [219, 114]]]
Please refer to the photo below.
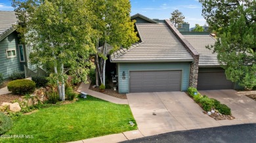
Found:
[[232, 89], [224, 72], [198, 72], [198, 90]]

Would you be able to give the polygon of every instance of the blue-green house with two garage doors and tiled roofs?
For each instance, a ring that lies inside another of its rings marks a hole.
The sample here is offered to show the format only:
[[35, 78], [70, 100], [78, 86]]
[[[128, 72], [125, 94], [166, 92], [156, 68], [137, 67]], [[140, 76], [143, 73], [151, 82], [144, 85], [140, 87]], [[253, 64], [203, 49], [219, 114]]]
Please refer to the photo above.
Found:
[[177, 29], [169, 20], [152, 20], [141, 14], [131, 20], [137, 21], [139, 42], [110, 55], [111, 64], [116, 63], [119, 93], [186, 91], [189, 86], [234, 89], [217, 54], [205, 48], [215, 44], [209, 33], [191, 34], [189, 24]]

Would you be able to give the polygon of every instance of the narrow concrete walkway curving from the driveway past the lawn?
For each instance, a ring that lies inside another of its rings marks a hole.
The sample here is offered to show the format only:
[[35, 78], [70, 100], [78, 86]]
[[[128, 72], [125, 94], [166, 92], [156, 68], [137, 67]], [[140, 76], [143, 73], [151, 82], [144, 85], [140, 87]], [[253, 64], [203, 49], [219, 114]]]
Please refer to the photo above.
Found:
[[109, 101], [110, 103], [128, 104], [127, 99], [118, 99], [118, 98], [112, 97], [110, 95], [106, 95], [106, 94], [103, 94], [103, 93], [99, 93], [99, 92], [90, 90], [89, 87], [90, 87], [90, 82], [88, 84], [85, 84], [84, 82], [82, 82], [81, 85], [78, 87], [77, 92], [85, 92], [88, 95], [91, 95], [91, 96], [96, 97], [98, 99], [103, 99], [105, 101]]

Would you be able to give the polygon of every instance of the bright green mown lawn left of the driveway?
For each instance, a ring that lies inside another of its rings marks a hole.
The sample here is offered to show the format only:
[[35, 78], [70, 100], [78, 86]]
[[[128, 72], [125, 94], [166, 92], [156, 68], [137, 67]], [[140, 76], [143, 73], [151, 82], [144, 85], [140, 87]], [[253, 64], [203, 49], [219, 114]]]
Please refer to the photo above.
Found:
[[21, 116], [5, 135], [24, 136], [11, 139], [2, 136], [0, 142], [70, 142], [137, 129], [137, 126], [131, 127], [129, 121], [135, 123], [129, 105], [87, 96], [76, 103], [51, 106]]

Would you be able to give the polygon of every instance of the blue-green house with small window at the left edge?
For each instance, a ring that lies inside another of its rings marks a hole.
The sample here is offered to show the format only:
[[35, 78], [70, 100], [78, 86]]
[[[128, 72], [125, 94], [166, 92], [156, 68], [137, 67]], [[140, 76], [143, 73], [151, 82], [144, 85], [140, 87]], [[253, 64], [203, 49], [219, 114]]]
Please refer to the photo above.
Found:
[[0, 73], [8, 78], [13, 72], [24, 71], [24, 65], [35, 69], [29, 62], [30, 46], [21, 44], [13, 25], [17, 24], [14, 11], [0, 11]]

